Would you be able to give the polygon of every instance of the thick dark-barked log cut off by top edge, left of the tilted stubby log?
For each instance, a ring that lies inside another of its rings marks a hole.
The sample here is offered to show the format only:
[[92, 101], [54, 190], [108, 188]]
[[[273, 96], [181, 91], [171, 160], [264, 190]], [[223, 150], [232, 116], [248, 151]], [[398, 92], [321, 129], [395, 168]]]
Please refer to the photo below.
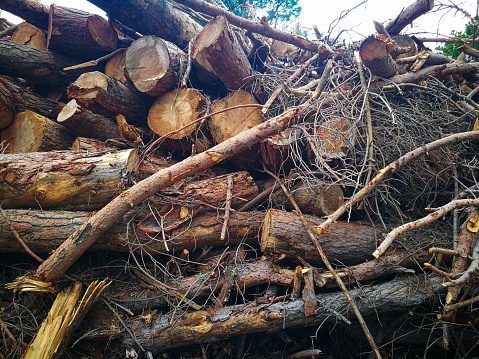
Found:
[[142, 33], [156, 35], [184, 49], [202, 27], [166, 0], [91, 0], [111, 18]]

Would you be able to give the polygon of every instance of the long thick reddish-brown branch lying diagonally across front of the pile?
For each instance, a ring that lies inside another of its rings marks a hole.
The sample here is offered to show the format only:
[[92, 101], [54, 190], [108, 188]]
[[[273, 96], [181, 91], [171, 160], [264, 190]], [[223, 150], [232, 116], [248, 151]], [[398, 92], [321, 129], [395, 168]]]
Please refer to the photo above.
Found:
[[252, 146], [261, 139], [284, 130], [296, 120], [297, 111], [274, 117], [250, 130], [226, 140], [215, 147], [191, 156], [182, 162], [160, 170], [123, 192], [72, 234], [31, 275], [44, 282], [56, 281], [105, 231], [132, 207], [159, 190], [220, 163], [235, 153]]

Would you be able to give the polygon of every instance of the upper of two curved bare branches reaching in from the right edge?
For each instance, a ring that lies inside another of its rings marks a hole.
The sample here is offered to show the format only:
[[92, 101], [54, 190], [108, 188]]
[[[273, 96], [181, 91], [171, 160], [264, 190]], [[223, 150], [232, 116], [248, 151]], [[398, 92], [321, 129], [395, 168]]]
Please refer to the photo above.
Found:
[[318, 235], [321, 235], [325, 229], [331, 226], [332, 223], [337, 221], [346, 211], [351, 209], [353, 205], [362, 200], [366, 195], [368, 195], [376, 186], [381, 183], [389, 175], [398, 172], [402, 167], [404, 167], [409, 162], [415, 160], [416, 158], [428, 153], [429, 151], [435, 150], [440, 147], [451, 145], [458, 142], [464, 142], [469, 140], [474, 140], [479, 138], [479, 131], [469, 131], [456, 133], [439, 140], [430, 142], [426, 145], [423, 145], [413, 151], [406, 153], [404, 156], [398, 158], [396, 161], [390, 163], [383, 169], [378, 171], [378, 174], [367, 183], [361, 190], [355, 193], [346, 203], [339, 207], [334, 213], [328, 216], [328, 219], [321, 223], [317, 228]]

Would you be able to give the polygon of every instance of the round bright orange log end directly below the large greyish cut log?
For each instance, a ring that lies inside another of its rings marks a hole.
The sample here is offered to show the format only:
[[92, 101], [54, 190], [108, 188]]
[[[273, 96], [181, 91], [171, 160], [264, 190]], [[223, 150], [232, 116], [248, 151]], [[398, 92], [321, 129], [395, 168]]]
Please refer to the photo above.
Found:
[[[180, 88], [158, 97], [148, 113], [148, 127], [159, 136], [177, 131], [206, 111], [206, 99], [198, 90]], [[191, 136], [200, 126], [200, 122], [175, 132], [169, 138], [180, 140]]]

